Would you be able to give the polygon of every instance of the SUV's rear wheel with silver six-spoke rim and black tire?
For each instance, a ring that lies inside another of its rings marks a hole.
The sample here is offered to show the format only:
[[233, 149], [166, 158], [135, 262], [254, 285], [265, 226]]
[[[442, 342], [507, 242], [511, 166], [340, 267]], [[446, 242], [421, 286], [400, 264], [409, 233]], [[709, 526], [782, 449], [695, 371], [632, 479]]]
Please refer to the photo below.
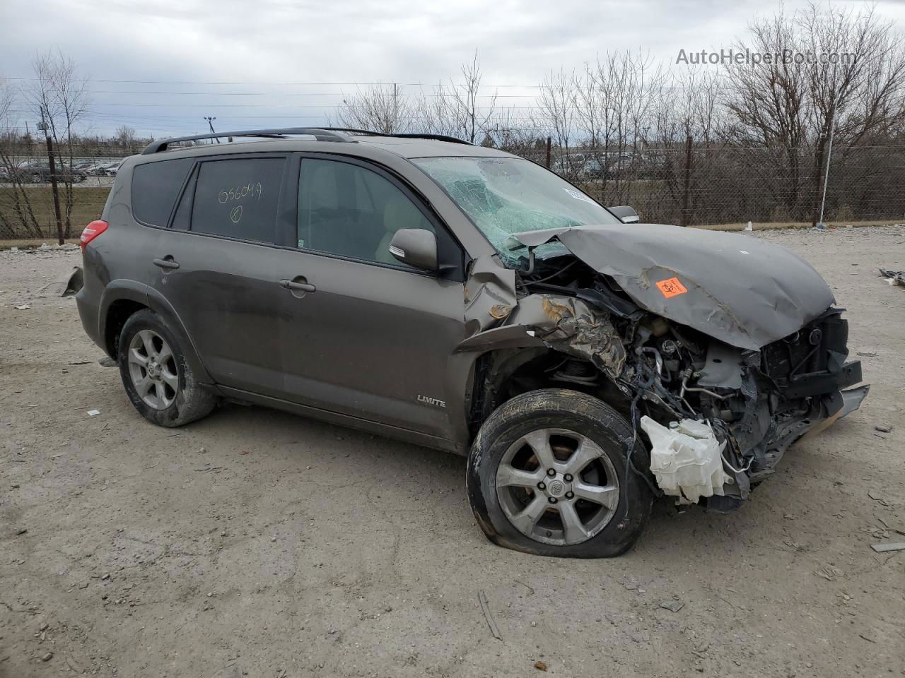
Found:
[[195, 381], [183, 343], [147, 308], [123, 325], [117, 363], [132, 405], [157, 426], [182, 426], [210, 414], [217, 404], [216, 396]]

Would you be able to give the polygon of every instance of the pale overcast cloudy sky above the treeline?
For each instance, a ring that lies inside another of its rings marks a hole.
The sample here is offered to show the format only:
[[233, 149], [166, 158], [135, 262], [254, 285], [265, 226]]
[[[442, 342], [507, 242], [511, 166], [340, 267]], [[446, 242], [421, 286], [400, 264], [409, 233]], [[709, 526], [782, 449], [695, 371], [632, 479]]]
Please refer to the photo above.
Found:
[[[786, 10], [804, 3], [786, 2]], [[852, 7], [860, 3], [836, 3]], [[881, 2], [897, 24], [905, 5]], [[90, 125], [156, 137], [216, 127], [324, 124], [357, 82], [458, 81], [477, 48], [483, 93], [530, 106], [548, 71], [606, 50], [719, 49], [755, 12], [735, 2], [308, 2], [308, 0], [0, 0], [0, 77], [27, 87], [38, 50], [59, 48], [90, 78]], [[902, 24], [905, 25], [905, 24]], [[717, 67], [712, 67], [717, 68]], [[230, 84], [227, 84], [230, 83]], [[232, 84], [239, 83], [239, 84]], [[343, 83], [343, 84], [319, 84]], [[504, 87], [507, 86], [507, 87]], [[511, 87], [523, 86], [523, 87]], [[519, 98], [523, 97], [523, 98]], [[33, 116], [25, 116], [33, 124]]]

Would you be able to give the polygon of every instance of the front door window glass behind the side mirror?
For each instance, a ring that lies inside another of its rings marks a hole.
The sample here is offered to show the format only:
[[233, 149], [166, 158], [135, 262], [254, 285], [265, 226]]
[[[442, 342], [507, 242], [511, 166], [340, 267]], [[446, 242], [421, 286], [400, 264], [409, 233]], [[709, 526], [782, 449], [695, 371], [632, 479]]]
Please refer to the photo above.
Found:
[[405, 264], [389, 252], [399, 229], [433, 232], [433, 225], [386, 178], [350, 163], [301, 161], [300, 249], [401, 267]]

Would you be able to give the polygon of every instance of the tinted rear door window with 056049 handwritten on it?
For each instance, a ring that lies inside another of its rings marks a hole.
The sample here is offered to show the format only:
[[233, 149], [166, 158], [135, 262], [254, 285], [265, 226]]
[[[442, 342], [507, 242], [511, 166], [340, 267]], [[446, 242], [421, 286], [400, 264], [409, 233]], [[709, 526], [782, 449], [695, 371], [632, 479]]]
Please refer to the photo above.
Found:
[[202, 163], [192, 205], [192, 231], [274, 242], [283, 158]]

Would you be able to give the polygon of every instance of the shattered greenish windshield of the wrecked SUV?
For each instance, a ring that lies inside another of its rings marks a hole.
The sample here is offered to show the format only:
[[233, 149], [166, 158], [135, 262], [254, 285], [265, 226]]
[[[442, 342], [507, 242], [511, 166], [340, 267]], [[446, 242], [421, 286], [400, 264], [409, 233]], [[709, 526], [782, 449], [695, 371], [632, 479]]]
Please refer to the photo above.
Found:
[[619, 223], [575, 186], [523, 158], [427, 157], [413, 162], [440, 184], [505, 259], [524, 255], [519, 251], [524, 245], [512, 233]]

